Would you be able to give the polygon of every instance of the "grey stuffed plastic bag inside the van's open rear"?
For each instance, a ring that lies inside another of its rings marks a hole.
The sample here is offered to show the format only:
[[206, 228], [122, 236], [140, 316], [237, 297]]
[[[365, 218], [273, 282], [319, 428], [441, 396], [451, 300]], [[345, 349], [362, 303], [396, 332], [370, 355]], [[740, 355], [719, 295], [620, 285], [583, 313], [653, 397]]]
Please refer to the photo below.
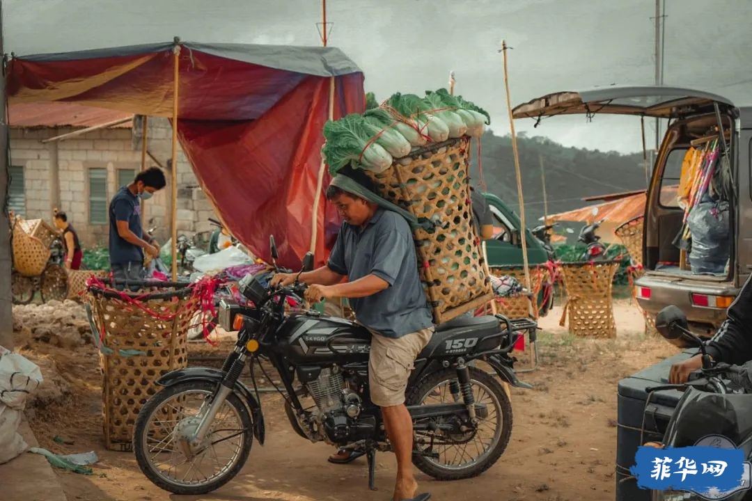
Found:
[[687, 218], [692, 233], [692, 273], [724, 273], [729, 261], [729, 204], [702, 202]]

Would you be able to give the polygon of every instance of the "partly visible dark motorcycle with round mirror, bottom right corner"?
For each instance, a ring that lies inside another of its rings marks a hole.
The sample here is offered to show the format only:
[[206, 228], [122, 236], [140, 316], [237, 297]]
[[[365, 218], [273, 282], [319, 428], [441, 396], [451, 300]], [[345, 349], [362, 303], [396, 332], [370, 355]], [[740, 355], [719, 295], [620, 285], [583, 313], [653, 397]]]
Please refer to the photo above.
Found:
[[[667, 340], [685, 337], [693, 340], [702, 352], [702, 368], [690, 374], [683, 385], [663, 385], [647, 388], [653, 391], [676, 389], [683, 391], [669, 426], [657, 448], [711, 445], [721, 448], [741, 448], [747, 463], [752, 460], [752, 364], [743, 366], [714, 363], [705, 345], [689, 330], [687, 317], [676, 306], [667, 306], [656, 316], [656, 328]], [[651, 492], [652, 501], [700, 501], [726, 499], [750, 501], [750, 468], [745, 465], [746, 484], [734, 492], [701, 493], [666, 490]]]

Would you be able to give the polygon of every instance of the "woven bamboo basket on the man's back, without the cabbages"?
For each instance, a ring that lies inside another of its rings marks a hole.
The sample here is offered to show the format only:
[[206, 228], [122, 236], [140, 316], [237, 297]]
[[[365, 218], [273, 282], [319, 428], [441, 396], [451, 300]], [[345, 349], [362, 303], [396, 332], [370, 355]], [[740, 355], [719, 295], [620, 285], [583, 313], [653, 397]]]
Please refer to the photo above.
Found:
[[413, 232], [418, 267], [436, 324], [493, 298], [472, 225], [468, 187], [470, 138], [417, 149], [380, 174], [368, 173], [379, 194], [437, 227]]

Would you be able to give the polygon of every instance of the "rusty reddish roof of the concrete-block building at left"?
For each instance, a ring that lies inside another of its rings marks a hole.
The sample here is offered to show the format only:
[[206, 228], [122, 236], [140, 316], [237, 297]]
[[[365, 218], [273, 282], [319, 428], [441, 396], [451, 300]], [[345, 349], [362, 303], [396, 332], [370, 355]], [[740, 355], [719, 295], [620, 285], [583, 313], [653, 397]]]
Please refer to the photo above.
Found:
[[[11, 127], [92, 127], [118, 119], [132, 117], [132, 113], [108, 110], [82, 104], [15, 103], [8, 105]], [[116, 128], [131, 128], [132, 122], [114, 125]]]

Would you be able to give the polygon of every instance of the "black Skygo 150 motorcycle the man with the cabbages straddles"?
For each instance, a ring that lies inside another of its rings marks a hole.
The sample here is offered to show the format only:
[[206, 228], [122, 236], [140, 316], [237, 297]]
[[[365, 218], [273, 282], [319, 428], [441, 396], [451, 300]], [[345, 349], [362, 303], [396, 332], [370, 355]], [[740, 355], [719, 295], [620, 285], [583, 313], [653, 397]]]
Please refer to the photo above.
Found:
[[[270, 237], [276, 268], [277, 247]], [[300, 273], [311, 270], [303, 259]], [[253, 306], [220, 305], [220, 323], [238, 331], [221, 370], [189, 367], [159, 379], [163, 388], [141, 408], [133, 448], [144, 475], [178, 494], [208, 493], [243, 467], [253, 438], [263, 445], [265, 423], [253, 365], [277, 371], [284, 410], [302, 439], [364, 451], [368, 487], [374, 489], [375, 454], [390, 451], [381, 409], [368, 391], [371, 333], [359, 324], [310, 309], [289, 311], [287, 297], [306, 285], [264, 285], [249, 275], [239, 282]], [[418, 355], [406, 390], [414, 427], [413, 463], [440, 480], [471, 478], [490, 468], [508, 444], [512, 409], [499, 380], [532, 388], [514, 374], [510, 352], [529, 318], [502, 315], [456, 318], [437, 326]], [[471, 361], [485, 361], [493, 375]], [[250, 364], [256, 396], [238, 380]], [[311, 402], [312, 400], [312, 402]], [[227, 421], [226, 421], [227, 420]], [[220, 448], [220, 450], [217, 450]]]

